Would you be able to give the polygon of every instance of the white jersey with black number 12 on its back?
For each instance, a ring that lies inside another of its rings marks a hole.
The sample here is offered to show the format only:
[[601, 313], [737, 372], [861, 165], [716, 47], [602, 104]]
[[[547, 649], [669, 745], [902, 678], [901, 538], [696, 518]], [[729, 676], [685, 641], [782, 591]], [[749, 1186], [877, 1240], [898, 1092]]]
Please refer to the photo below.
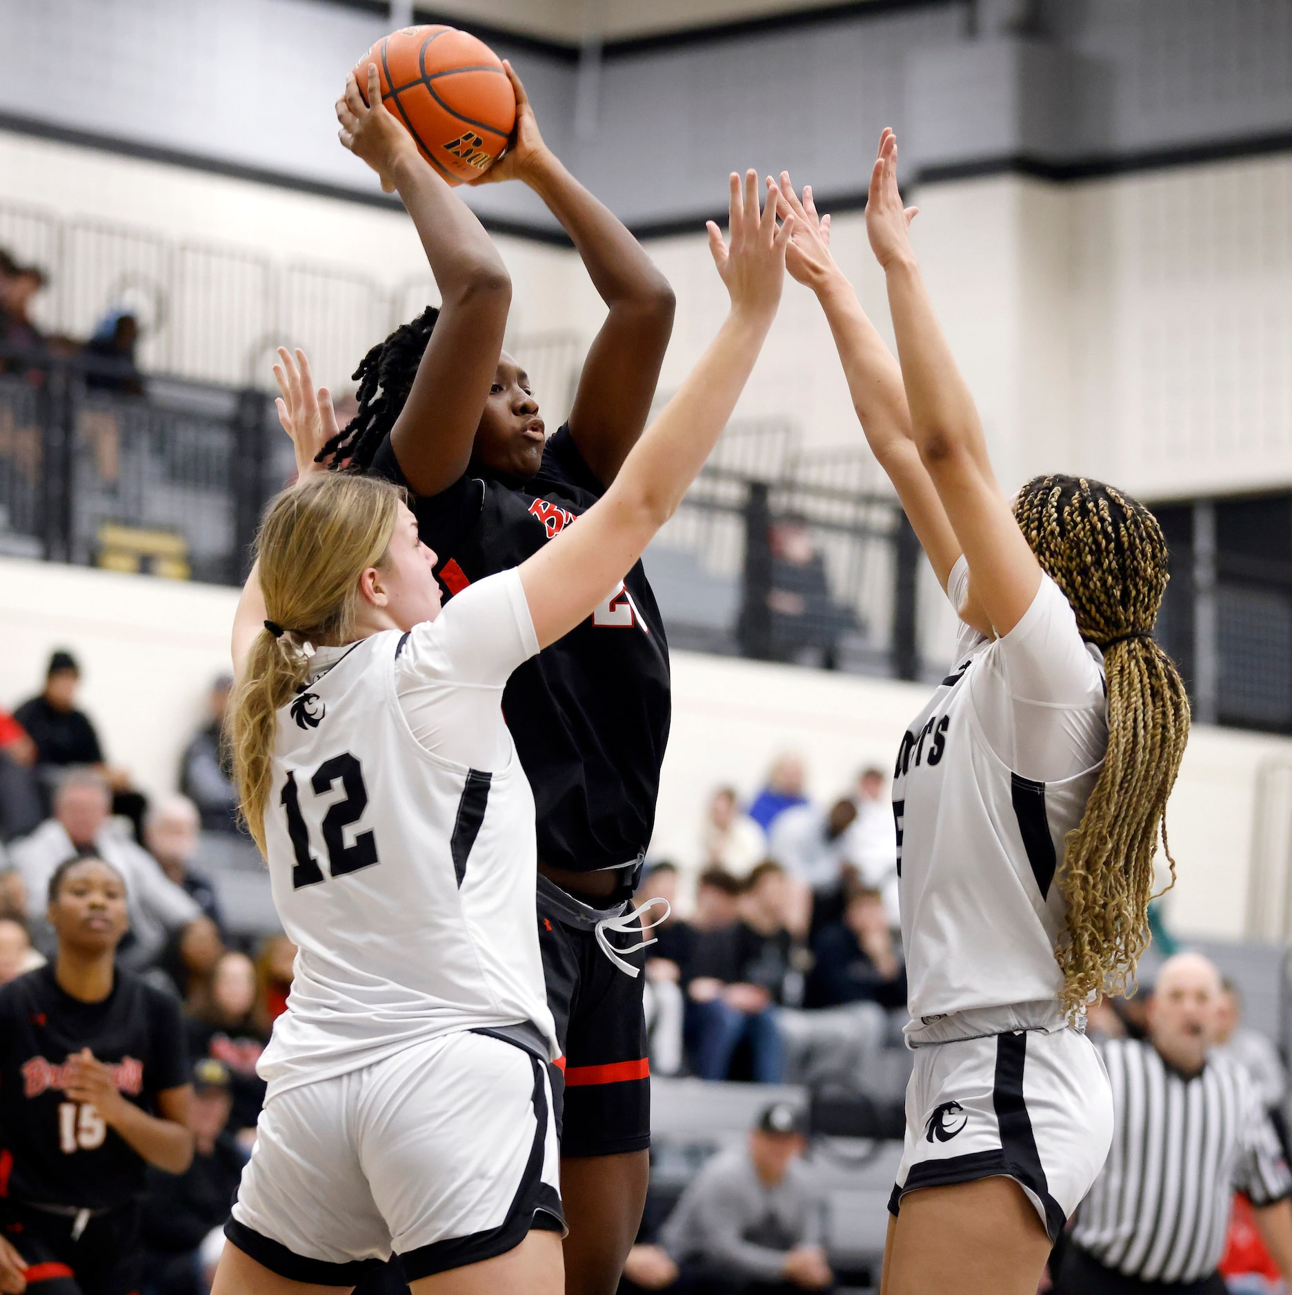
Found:
[[[498, 708], [536, 648], [520, 575], [504, 572], [411, 633], [321, 649], [279, 712], [264, 830], [299, 952], [258, 1067], [270, 1098], [463, 1030], [534, 1026], [559, 1055], [534, 923], [534, 798]], [[399, 693], [410, 682], [444, 723], [454, 692], [476, 690], [500, 767], [419, 741]]]

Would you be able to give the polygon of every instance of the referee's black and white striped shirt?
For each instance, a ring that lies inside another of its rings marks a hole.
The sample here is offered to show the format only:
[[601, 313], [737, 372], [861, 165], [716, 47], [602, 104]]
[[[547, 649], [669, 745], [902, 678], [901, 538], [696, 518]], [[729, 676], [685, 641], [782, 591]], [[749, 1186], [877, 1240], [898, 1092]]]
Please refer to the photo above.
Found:
[[1148, 1042], [1104, 1045], [1113, 1145], [1072, 1241], [1142, 1281], [1192, 1282], [1225, 1251], [1235, 1190], [1256, 1206], [1292, 1194], [1278, 1136], [1247, 1074], [1223, 1057], [1192, 1079]]

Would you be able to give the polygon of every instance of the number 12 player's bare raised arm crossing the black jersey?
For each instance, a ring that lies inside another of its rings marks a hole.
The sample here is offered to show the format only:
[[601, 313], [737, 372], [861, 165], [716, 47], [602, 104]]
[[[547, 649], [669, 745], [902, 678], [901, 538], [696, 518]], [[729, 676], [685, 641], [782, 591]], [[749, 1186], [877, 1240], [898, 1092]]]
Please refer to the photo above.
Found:
[[731, 176], [731, 246], [709, 223], [713, 253], [731, 312], [700, 363], [645, 435], [614, 484], [574, 526], [521, 566], [521, 581], [542, 646], [560, 638], [631, 570], [673, 515], [704, 466], [762, 350], [780, 303], [789, 218], [776, 229], [775, 186], [758, 214], [758, 177]]

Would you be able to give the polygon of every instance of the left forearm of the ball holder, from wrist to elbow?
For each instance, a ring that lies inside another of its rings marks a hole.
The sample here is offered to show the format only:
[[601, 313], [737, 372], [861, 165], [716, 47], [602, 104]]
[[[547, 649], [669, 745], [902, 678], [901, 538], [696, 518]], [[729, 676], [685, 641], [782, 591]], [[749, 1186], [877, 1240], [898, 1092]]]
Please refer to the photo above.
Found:
[[391, 177], [446, 304], [476, 295], [502, 299], [505, 319], [512, 281], [476, 212], [421, 157], [400, 157]]

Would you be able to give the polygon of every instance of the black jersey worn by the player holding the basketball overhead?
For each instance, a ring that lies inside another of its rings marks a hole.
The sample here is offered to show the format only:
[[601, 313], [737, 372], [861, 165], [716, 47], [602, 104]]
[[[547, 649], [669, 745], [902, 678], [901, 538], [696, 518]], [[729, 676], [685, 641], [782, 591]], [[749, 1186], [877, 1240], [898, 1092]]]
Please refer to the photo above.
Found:
[[[389, 438], [372, 471], [407, 486]], [[604, 491], [566, 425], [548, 439], [525, 486], [463, 477], [439, 495], [413, 496], [412, 509], [451, 598], [531, 557]], [[540, 860], [594, 872], [645, 853], [670, 706], [669, 645], [638, 562], [587, 620], [525, 662], [503, 694], [534, 789]]]

